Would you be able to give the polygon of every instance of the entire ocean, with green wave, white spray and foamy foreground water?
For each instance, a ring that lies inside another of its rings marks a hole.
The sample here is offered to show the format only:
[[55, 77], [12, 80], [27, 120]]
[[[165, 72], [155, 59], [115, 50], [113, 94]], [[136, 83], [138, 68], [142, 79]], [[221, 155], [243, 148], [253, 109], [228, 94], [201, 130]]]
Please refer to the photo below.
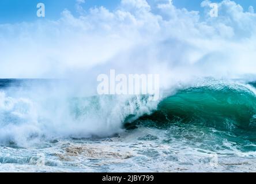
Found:
[[157, 102], [59, 83], [0, 80], [1, 172], [256, 171], [254, 82], [206, 79]]

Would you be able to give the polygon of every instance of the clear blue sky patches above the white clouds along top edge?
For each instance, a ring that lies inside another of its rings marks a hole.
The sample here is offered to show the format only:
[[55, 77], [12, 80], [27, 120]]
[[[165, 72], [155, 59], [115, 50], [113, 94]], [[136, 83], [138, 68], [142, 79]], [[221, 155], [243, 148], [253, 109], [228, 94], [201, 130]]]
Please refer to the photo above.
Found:
[[[0, 1], [0, 24], [33, 21], [36, 20], [36, 5], [39, 2], [43, 2], [46, 5], [46, 16], [49, 19], [59, 18], [61, 12], [64, 9], [69, 9], [74, 15], [76, 15], [76, 0], [1, 0]], [[115, 9], [118, 6], [120, 0], [86, 0], [82, 5], [85, 10], [90, 7], [104, 6], [108, 9]], [[186, 7], [188, 10], [201, 10], [200, 3], [202, 0], [173, 0], [176, 7]], [[219, 1], [212, 1], [219, 2]], [[250, 5], [256, 7], [256, 1], [254, 0], [235, 0], [248, 9]]]

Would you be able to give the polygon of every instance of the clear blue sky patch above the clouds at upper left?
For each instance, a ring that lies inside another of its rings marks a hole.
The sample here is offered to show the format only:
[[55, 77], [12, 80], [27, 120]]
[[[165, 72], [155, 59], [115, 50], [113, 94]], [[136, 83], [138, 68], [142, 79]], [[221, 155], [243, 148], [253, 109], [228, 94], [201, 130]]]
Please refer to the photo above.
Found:
[[[1, 0], [0, 24], [36, 20], [36, 5], [40, 2], [46, 6], [46, 17], [49, 19], [59, 18], [64, 9], [76, 14], [76, 0]], [[84, 9], [95, 6], [114, 9], [118, 3], [119, 0], [86, 0], [82, 6]]]

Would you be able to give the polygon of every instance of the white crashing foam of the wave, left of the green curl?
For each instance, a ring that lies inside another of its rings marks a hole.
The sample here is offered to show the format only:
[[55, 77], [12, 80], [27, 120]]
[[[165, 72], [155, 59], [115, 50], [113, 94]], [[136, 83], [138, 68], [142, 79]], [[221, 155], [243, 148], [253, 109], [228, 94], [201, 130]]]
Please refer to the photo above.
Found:
[[42, 97], [29, 94], [31, 91], [25, 97], [9, 97], [3, 91], [0, 93], [2, 143], [13, 141], [26, 146], [43, 137], [111, 136], [122, 132], [127, 117], [133, 121], [150, 114], [158, 104], [140, 95]]

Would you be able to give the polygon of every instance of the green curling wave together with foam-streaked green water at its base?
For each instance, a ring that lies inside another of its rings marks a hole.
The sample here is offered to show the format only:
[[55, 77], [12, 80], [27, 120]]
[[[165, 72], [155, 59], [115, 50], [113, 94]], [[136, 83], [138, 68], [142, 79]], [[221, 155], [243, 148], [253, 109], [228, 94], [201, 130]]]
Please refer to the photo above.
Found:
[[165, 98], [155, 112], [125, 126], [163, 129], [167, 137], [202, 148], [224, 149], [227, 140], [241, 151], [256, 151], [255, 114], [256, 96], [247, 87], [192, 87]]

